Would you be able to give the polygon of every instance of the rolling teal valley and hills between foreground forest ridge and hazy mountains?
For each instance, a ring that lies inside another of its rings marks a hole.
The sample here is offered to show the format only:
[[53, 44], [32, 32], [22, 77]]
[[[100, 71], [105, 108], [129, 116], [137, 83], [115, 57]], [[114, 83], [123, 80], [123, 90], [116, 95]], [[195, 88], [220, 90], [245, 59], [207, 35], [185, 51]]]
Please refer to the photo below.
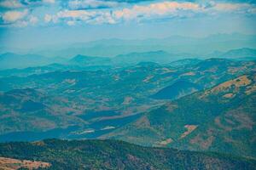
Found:
[[121, 139], [255, 157], [255, 64], [181, 59], [86, 70], [72, 61], [41, 73], [6, 70], [13, 75], [0, 78], [0, 141]]

